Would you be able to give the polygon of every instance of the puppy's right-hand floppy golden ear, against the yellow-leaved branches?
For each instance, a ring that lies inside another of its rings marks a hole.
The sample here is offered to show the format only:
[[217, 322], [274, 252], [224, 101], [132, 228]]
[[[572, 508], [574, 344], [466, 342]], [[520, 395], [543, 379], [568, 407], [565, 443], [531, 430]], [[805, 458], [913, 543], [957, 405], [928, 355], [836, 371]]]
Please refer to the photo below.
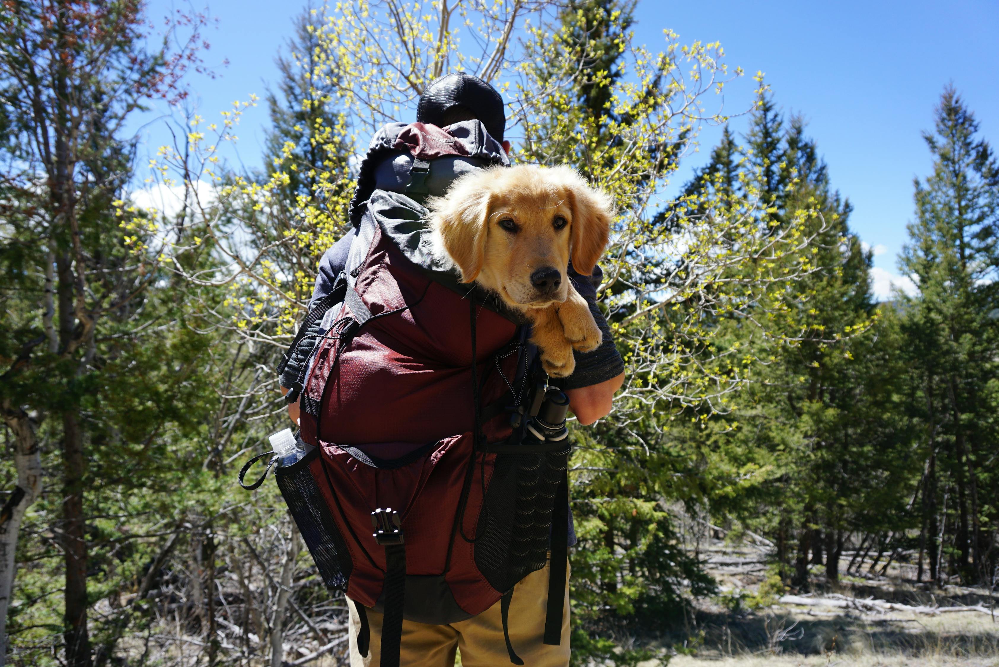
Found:
[[569, 233], [572, 269], [581, 276], [589, 276], [607, 247], [614, 205], [609, 196], [590, 188], [574, 171], [565, 179], [565, 187], [572, 208]]

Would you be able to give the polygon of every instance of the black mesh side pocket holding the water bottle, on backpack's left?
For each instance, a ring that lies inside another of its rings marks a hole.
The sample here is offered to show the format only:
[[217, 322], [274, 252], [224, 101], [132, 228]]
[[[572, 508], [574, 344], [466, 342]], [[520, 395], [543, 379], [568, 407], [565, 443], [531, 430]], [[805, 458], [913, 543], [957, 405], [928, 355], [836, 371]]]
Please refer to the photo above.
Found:
[[311, 463], [318, 455], [319, 448], [315, 448], [295, 464], [275, 468], [274, 476], [323, 581], [330, 588], [346, 591], [354, 566], [312, 473]]

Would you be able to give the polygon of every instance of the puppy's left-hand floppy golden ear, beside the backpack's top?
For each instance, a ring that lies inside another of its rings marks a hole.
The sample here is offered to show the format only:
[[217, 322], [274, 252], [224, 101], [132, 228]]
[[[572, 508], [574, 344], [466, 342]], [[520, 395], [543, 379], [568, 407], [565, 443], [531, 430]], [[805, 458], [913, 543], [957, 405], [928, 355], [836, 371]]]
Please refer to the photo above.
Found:
[[483, 172], [459, 179], [446, 197], [430, 202], [431, 225], [439, 244], [462, 272], [462, 282], [472, 283], [483, 270], [489, 233], [493, 191]]

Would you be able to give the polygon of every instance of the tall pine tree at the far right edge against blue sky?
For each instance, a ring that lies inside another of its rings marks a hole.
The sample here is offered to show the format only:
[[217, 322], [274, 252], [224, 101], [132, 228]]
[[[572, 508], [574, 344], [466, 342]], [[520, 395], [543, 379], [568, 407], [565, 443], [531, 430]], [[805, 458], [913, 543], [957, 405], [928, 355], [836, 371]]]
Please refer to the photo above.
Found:
[[997, 515], [996, 478], [983, 466], [994, 441], [995, 410], [989, 386], [999, 378], [994, 310], [999, 272], [999, 165], [977, 121], [948, 86], [923, 138], [933, 173], [915, 181], [916, 220], [900, 266], [918, 286], [905, 299], [905, 329], [912, 340], [920, 395], [913, 409], [925, 424], [923, 542], [931, 576], [943, 576], [936, 535], [944, 517], [940, 496], [951, 493], [953, 517], [946, 536], [950, 569], [966, 582], [991, 571]]

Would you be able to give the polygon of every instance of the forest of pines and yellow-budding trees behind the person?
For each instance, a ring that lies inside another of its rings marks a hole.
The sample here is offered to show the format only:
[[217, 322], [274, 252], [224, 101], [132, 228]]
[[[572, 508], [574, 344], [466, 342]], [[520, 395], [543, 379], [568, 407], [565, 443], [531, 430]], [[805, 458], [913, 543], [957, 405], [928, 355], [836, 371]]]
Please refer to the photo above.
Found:
[[[345, 231], [357, 154], [462, 69], [503, 91], [517, 161], [571, 164], [619, 208], [599, 296], [627, 380], [572, 429], [575, 661], [634, 661], [625, 628], [718, 593], [687, 523], [765, 545], [765, 595], [893, 561], [994, 587], [999, 167], [972, 110], [940, 82], [899, 260], [912, 289], [878, 303], [802, 117], [718, 44], [646, 47], [636, 12], [307, 9], [247, 170], [229, 147], [258, 100], [189, 104], [209, 16], [4, 4], [0, 655], [342, 657], [342, 599], [274, 485], [247, 494], [235, 473], [287, 425], [273, 368]], [[722, 107], [732, 86], [754, 100]], [[131, 131], [153, 103], [172, 109], [158, 150]], [[705, 127], [725, 130], [677, 182]]]

